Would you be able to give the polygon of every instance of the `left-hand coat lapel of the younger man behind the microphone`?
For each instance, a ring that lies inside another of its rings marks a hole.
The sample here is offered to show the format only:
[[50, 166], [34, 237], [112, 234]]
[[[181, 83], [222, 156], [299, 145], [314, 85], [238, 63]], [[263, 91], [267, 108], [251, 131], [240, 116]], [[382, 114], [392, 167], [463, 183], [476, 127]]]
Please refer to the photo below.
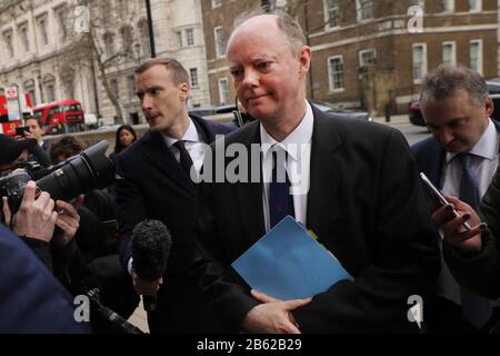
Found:
[[157, 168], [170, 177], [170, 179], [179, 187], [183, 188], [188, 194], [194, 196], [194, 184], [189, 177], [187, 177], [176, 157], [167, 147], [161, 134], [149, 131], [147, 135], [148, 136], [144, 138], [146, 145], [142, 146], [144, 156], [151, 161], [152, 165], [157, 166]]

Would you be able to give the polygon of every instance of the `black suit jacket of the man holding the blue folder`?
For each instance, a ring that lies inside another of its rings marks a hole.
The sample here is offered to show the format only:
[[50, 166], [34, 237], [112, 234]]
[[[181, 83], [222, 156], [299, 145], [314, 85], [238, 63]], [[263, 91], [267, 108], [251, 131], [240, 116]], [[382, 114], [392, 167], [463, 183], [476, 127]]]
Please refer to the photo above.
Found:
[[[430, 291], [439, 270], [437, 237], [414, 161], [391, 128], [314, 115], [307, 227], [356, 283], [340, 281], [296, 312], [303, 333], [407, 332], [407, 299]], [[226, 145], [260, 142], [253, 122]], [[227, 159], [227, 162], [230, 159]], [[264, 235], [262, 186], [200, 186], [193, 268], [226, 325], [238, 330], [258, 303], [230, 264]]]

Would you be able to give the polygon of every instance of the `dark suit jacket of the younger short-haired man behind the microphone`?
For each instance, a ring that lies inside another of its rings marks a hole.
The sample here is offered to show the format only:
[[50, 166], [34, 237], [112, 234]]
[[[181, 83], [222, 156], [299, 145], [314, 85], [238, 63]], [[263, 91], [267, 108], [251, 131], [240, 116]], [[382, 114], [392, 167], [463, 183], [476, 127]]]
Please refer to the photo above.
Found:
[[[217, 134], [232, 127], [191, 117], [208, 142]], [[193, 256], [191, 228], [194, 221], [197, 188], [167, 147], [161, 134], [148, 131], [117, 157], [117, 204], [119, 250], [122, 265], [130, 259], [130, 238], [133, 227], [148, 219], [167, 225], [172, 235], [163, 285], [159, 290], [158, 313], [148, 316], [152, 332], [203, 332], [196, 283], [188, 275]], [[151, 320], [153, 325], [151, 325]]]

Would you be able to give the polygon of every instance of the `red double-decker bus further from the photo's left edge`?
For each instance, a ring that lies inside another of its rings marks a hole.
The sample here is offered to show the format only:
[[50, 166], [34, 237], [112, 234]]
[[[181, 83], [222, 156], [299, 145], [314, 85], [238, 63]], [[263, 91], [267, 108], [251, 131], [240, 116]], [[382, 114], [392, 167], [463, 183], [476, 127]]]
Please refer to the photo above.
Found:
[[59, 100], [33, 108], [47, 134], [68, 134], [84, 130], [84, 111], [80, 101]]

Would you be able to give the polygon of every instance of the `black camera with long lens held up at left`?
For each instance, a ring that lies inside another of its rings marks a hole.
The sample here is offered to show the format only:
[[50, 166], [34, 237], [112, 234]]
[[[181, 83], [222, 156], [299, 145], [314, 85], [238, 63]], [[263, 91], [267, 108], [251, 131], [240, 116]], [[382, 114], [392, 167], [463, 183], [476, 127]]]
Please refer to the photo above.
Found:
[[108, 142], [102, 140], [49, 169], [26, 162], [26, 171], [0, 178], [0, 196], [8, 198], [16, 214], [30, 180], [37, 182], [37, 190], [49, 192], [53, 200], [68, 201], [91, 189], [102, 189], [114, 180], [114, 165], [106, 156]]

